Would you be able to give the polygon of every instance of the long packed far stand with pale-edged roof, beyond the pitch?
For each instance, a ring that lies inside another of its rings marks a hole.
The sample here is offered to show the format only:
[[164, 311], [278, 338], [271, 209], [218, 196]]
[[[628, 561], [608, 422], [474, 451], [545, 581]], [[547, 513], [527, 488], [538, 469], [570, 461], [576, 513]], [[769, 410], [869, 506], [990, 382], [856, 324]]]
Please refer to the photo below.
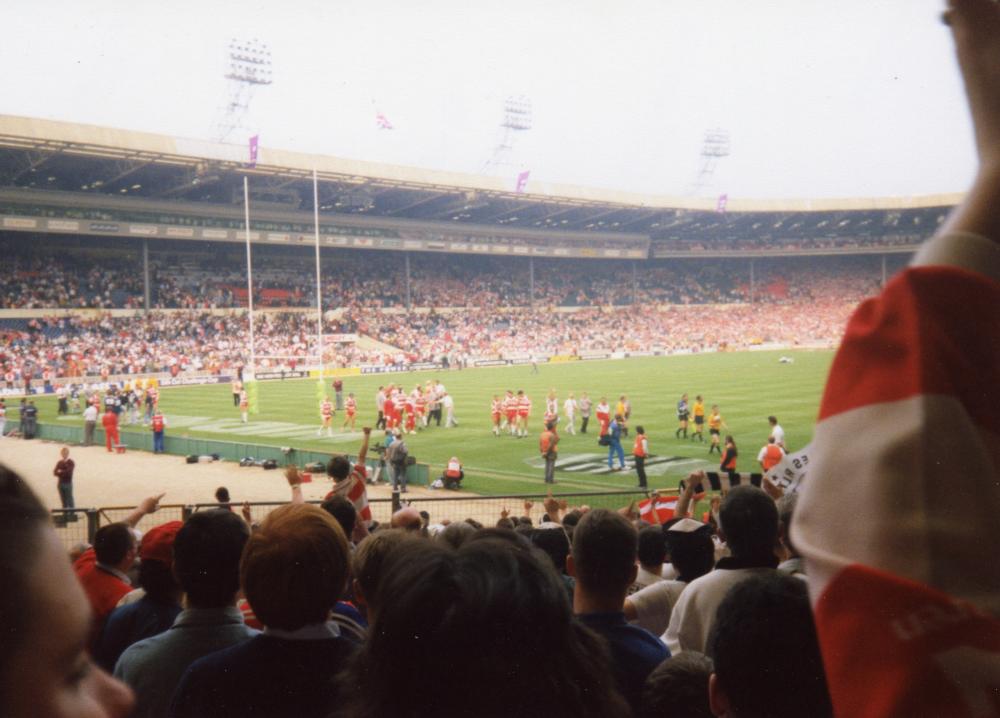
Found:
[[267, 147], [250, 167], [244, 153], [0, 117], [5, 372], [245, 363], [247, 245], [264, 366], [319, 355], [317, 243], [323, 330], [340, 340], [328, 362], [831, 346], [956, 201], [720, 209]]

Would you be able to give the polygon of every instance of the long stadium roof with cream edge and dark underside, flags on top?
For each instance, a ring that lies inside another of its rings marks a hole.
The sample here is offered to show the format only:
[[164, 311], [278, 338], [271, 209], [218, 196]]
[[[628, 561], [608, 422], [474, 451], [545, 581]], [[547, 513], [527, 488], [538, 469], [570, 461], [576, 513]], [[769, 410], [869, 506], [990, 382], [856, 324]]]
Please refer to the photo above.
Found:
[[[249, 175], [253, 202], [272, 209], [312, 208], [312, 172], [320, 178], [320, 210], [409, 220], [523, 229], [653, 235], [692, 224], [752, 224], [754, 213], [906, 213], [956, 204], [960, 196], [753, 200], [667, 197], [531, 180], [513, 180], [289, 152], [263, 146], [248, 167], [243, 145], [0, 115], [0, 187], [83, 192], [233, 205]], [[741, 220], [742, 217], [742, 220]], [[779, 220], [780, 221], [780, 220]], [[850, 224], [850, 222], [848, 222]]]

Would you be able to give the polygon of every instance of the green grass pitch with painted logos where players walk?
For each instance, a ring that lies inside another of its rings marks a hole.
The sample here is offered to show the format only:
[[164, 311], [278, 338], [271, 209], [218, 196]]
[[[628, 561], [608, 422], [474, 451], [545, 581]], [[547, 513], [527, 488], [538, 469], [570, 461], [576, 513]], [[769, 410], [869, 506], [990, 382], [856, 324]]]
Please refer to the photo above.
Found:
[[[782, 355], [793, 363], [779, 363]], [[805, 446], [812, 438], [823, 384], [833, 354], [829, 351], [741, 352], [635, 358], [623, 361], [543, 364], [533, 374], [531, 366], [467, 369], [463, 371], [415, 372], [344, 377], [344, 393], [358, 400], [357, 433], [342, 433], [342, 412], [334, 419], [334, 438], [319, 438], [319, 401], [315, 379], [259, 383], [259, 413], [243, 426], [233, 407], [228, 384], [167, 388], [160, 406], [170, 426], [168, 433], [224, 441], [253, 441], [277, 446], [355, 453], [360, 428], [375, 420], [375, 392], [389, 382], [407, 389], [427, 379], [440, 379], [455, 399], [459, 426], [431, 427], [406, 440], [410, 454], [431, 465], [432, 478], [440, 474], [449, 457], [458, 456], [465, 466], [464, 487], [480, 494], [518, 494], [543, 491], [542, 462], [538, 434], [544, 413], [545, 396], [555, 388], [560, 402], [568, 392], [577, 397], [586, 391], [595, 404], [601, 396], [614, 402], [626, 394], [632, 402], [633, 427], [643, 425], [654, 458], [648, 460], [650, 484], [657, 488], [676, 487], [677, 479], [699, 468], [718, 466], [717, 455], [708, 454], [708, 444], [674, 438], [677, 426], [675, 404], [684, 392], [693, 401], [705, 398], [706, 412], [719, 404], [728, 430], [740, 451], [738, 468], [757, 468], [756, 455], [769, 433], [767, 416], [778, 417], [791, 450]], [[332, 398], [330, 380], [326, 386]], [[490, 431], [490, 400], [506, 389], [524, 389], [532, 399], [530, 436], [516, 439], [495, 437]], [[55, 416], [55, 400], [39, 401], [42, 419]], [[79, 416], [62, 421], [79, 422]], [[557, 489], [560, 492], [625, 489], [637, 484], [634, 471], [608, 473], [607, 449], [597, 444], [596, 422], [586, 435], [571, 436], [560, 417], [560, 463]], [[577, 419], [579, 427], [579, 419]], [[124, 427], [126, 431], [129, 427]], [[626, 454], [632, 436], [624, 437]], [[373, 440], [381, 438], [373, 433]], [[706, 442], [707, 442], [706, 429]], [[127, 442], [127, 437], [126, 437]]]

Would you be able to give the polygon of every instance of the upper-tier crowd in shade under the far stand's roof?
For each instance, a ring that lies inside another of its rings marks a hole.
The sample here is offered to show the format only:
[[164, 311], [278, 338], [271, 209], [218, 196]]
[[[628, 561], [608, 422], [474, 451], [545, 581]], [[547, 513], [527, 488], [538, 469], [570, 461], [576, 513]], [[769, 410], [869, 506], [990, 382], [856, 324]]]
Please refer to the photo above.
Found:
[[[0, 242], [10, 271], [0, 276], [0, 308], [113, 309], [144, 306], [143, 266], [134, 249], [95, 251]], [[246, 259], [238, 250], [150, 254], [154, 309], [230, 309], [247, 301]], [[315, 306], [315, 265], [303, 251], [265, 247], [254, 254], [257, 307]], [[407, 304], [406, 259], [398, 252], [327, 251], [321, 265], [323, 306], [401, 308]], [[879, 258], [810, 257], [757, 260], [597, 261], [538, 259], [532, 282], [524, 258], [414, 253], [409, 304], [413, 307], [589, 307], [652, 304], [725, 304], [785, 299], [832, 283], [844, 297], [871, 294], [881, 277]], [[893, 268], [900, 266], [894, 261]]]

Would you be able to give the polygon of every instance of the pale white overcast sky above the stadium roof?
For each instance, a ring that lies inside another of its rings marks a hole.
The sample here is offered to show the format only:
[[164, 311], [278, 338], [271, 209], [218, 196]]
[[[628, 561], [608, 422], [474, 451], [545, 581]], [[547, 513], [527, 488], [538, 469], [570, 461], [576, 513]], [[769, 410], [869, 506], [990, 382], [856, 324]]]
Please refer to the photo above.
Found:
[[954, 192], [974, 155], [942, 4], [5, 0], [0, 113], [209, 138], [226, 46], [256, 37], [266, 147], [480, 172], [526, 95], [505, 176], [689, 196], [719, 127], [705, 196]]

